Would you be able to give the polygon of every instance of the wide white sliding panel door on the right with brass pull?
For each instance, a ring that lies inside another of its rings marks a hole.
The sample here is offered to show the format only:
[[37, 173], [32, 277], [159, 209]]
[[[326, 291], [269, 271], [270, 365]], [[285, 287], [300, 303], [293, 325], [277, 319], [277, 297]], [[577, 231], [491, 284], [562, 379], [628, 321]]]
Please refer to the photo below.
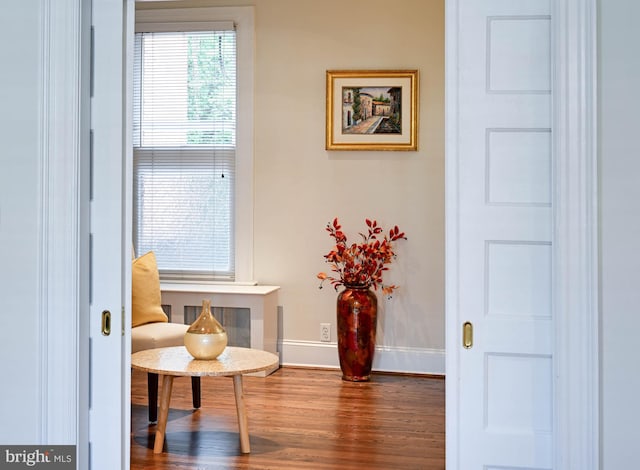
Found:
[[551, 469], [550, 5], [457, 4], [449, 10], [458, 22], [457, 87], [448, 93], [458, 111], [448, 121], [447, 311], [458, 380], [447, 464]]

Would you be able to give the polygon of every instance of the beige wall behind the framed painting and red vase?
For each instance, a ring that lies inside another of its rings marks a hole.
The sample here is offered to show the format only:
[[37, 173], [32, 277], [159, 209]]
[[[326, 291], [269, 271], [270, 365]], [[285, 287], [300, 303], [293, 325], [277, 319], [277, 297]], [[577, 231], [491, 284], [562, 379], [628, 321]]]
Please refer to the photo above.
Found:
[[[399, 225], [380, 298], [378, 344], [444, 350], [444, 1], [253, 0], [255, 5], [255, 278], [282, 286], [282, 339], [319, 341], [336, 294], [318, 290], [338, 216], [354, 237], [364, 218]], [[147, 4], [139, 4], [146, 7]], [[326, 151], [325, 71], [418, 69], [417, 152]], [[354, 238], [355, 240], [355, 238]], [[294, 361], [295, 362], [295, 361]]]

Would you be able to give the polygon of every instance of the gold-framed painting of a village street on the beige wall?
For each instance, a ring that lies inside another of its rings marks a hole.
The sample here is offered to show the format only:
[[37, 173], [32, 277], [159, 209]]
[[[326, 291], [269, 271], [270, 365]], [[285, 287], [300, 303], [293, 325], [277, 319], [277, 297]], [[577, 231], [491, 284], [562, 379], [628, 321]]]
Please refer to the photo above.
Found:
[[327, 70], [327, 150], [417, 150], [417, 70]]

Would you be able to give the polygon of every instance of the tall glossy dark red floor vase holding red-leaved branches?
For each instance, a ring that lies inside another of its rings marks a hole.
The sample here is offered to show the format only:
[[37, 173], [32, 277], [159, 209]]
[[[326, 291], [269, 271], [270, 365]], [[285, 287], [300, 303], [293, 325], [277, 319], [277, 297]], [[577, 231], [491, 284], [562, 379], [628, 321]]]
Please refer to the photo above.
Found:
[[338, 294], [337, 313], [342, 380], [367, 381], [376, 349], [378, 299], [368, 285], [345, 285]]

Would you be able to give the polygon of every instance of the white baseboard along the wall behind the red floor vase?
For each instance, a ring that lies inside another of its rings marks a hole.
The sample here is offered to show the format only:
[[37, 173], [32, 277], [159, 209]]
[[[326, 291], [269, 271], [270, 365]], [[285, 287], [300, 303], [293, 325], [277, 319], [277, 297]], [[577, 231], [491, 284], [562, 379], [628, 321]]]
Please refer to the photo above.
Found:
[[[282, 365], [339, 369], [336, 343], [282, 340], [279, 344]], [[376, 346], [373, 370], [410, 374], [445, 374], [443, 349]]]

